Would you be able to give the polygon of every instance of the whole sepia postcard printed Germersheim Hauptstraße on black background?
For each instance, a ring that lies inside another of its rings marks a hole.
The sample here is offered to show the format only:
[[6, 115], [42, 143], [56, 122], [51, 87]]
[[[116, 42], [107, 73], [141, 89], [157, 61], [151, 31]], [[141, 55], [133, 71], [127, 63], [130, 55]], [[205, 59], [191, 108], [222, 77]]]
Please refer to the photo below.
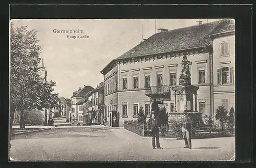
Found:
[[235, 20], [12, 19], [9, 161], [235, 159]]

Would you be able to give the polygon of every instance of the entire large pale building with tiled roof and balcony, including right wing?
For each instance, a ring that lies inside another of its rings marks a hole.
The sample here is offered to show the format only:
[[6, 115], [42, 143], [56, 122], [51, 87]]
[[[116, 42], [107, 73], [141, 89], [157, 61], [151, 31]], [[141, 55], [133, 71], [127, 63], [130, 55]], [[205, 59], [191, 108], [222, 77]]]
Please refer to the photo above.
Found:
[[192, 62], [189, 65], [191, 85], [199, 87], [196, 105], [202, 116], [214, 115], [222, 104], [228, 110], [234, 107], [234, 22], [223, 19], [198, 23], [170, 31], [159, 29], [101, 71], [110, 125], [116, 117], [120, 126], [124, 120], [137, 120], [140, 106], [149, 117], [148, 88], [171, 92], [163, 102], [167, 112], [182, 113], [183, 100], [175, 101], [169, 88], [178, 84], [183, 55]]

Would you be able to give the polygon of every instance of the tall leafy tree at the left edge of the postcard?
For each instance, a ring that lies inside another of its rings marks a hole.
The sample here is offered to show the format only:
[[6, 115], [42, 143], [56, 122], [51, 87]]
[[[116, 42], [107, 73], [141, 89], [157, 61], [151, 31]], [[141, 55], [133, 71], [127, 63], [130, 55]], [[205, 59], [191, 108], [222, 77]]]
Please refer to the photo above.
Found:
[[55, 82], [43, 82], [39, 75], [40, 52], [35, 30], [27, 30], [27, 26], [14, 29], [11, 23], [11, 128], [14, 111], [20, 114], [20, 128], [25, 128], [24, 110], [53, 107], [58, 94], [53, 93]]

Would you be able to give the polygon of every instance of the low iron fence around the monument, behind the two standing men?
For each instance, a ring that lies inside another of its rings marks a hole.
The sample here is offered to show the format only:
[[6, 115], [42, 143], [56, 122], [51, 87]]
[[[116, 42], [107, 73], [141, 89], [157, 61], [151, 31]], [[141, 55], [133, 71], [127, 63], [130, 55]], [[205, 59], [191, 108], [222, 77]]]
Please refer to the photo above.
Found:
[[[134, 132], [140, 136], [149, 137], [151, 132], [147, 127], [134, 122], [124, 121], [124, 129]], [[196, 127], [191, 130], [192, 138], [211, 138], [211, 137], [224, 137], [234, 136], [234, 127], [220, 124], [206, 125], [204, 127]], [[183, 138], [180, 123], [172, 125], [163, 125], [159, 129], [159, 137], [174, 137]]]

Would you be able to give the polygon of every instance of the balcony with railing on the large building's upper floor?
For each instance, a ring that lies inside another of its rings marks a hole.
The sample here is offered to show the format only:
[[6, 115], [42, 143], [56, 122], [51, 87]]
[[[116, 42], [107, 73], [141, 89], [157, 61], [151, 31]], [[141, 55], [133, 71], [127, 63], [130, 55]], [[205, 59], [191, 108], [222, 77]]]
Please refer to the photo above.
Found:
[[145, 95], [148, 97], [154, 96], [170, 96], [170, 87], [169, 86], [154, 86], [146, 88]]

